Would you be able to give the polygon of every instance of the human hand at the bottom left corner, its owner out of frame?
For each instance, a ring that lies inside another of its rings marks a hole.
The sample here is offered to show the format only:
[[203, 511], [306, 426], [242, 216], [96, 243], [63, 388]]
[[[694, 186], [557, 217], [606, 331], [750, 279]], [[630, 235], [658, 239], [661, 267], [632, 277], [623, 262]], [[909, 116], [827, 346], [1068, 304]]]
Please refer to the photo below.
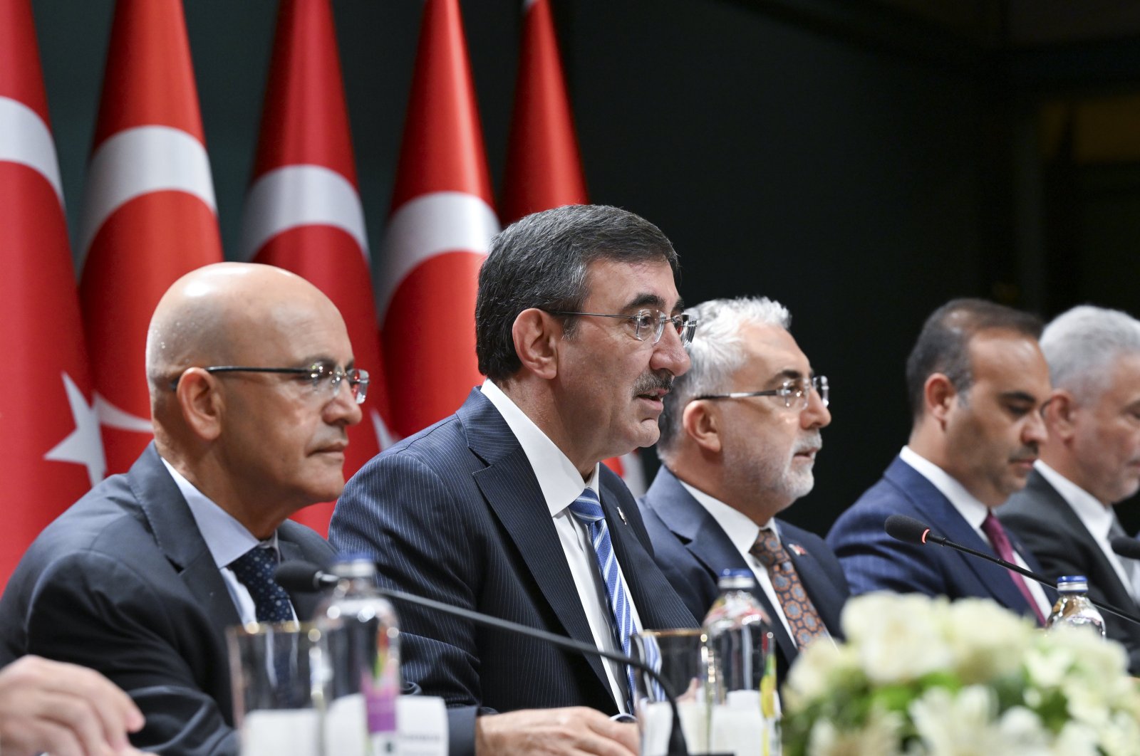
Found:
[[0, 669], [3, 756], [133, 756], [127, 733], [142, 723], [135, 701], [93, 669], [38, 656]]

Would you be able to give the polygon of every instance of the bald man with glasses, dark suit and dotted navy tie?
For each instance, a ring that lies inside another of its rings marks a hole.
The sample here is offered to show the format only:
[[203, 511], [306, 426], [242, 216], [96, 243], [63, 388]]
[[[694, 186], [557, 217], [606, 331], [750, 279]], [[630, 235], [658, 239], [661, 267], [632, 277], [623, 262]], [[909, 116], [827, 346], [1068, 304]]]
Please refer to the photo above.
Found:
[[0, 666], [92, 667], [146, 716], [144, 750], [236, 756], [223, 631], [311, 616], [315, 597], [271, 573], [333, 556], [286, 518], [341, 493], [368, 373], [324, 294], [247, 263], [171, 286], [146, 367], [154, 443], [24, 554], [0, 599]]

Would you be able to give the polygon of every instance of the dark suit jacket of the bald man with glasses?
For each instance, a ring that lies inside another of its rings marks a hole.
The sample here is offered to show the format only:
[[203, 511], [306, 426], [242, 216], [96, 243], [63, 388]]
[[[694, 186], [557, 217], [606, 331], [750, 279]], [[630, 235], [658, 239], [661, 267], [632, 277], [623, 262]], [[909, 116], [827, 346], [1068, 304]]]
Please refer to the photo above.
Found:
[[[283, 559], [324, 564], [332, 549], [296, 523]], [[291, 597], [299, 617], [314, 594]], [[28, 548], [0, 599], [0, 666], [25, 654], [98, 669], [146, 716], [144, 750], [237, 754], [223, 631], [237, 609], [186, 500], [152, 444]]]

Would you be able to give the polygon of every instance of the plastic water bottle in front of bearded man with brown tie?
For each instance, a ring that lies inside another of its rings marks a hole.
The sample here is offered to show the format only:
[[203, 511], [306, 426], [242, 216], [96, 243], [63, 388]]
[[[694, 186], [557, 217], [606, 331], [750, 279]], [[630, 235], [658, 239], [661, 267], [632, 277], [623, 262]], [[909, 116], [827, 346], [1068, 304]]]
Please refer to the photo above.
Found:
[[[775, 665], [769, 658], [767, 622], [756, 600], [756, 578], [726, 569], [720, 595], [705, 617], [712, 696], [711, 745], [716, 753], [780, 753]], [[757, 741], [760, 748], [757, 749]]]

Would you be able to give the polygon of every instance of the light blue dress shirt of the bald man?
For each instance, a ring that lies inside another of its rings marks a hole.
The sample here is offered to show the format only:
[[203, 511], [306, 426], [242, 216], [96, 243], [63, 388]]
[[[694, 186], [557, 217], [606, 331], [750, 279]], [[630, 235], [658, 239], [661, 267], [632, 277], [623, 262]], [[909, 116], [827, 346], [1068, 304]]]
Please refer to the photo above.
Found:
[[[272, 536], [264, 541], [258, 540], [233, 515], [210, 501], [193, 483], [182, 477], [182, 474], [176, 470], [170, 462], [162, 460], [162, 463], [166, 466], [166, 471], [174, 478], [174, 484], [190, 508], [194, 523], [198, 526], [202, 540], [206, 542], [206, 548], [210, 550], [210, 556], [213, 557], [214, 564], [218, 566], [218, 570], [226, 582], [226, 587], [229, 589], [229, 598], [233, 599], [234, 606], [237, 608], [237, 615], [242, 618], [242, 624], [247, 625], [256, 622], [258, 610], [253, 603], [253, 597], [250, 595], [250, 590], [245, 587], [242, 581], [237, 580], [237, 575], [234, 574], [234, 570], [228, 565], [254, 547], [272, 549], [276, 558], [279, 560], [280, 552], [277, 550], [277, 532], [275, 531]], [[296, 611], [292, 606], [290, 609], [293, 611], [293, 619], [296, 619]]]

